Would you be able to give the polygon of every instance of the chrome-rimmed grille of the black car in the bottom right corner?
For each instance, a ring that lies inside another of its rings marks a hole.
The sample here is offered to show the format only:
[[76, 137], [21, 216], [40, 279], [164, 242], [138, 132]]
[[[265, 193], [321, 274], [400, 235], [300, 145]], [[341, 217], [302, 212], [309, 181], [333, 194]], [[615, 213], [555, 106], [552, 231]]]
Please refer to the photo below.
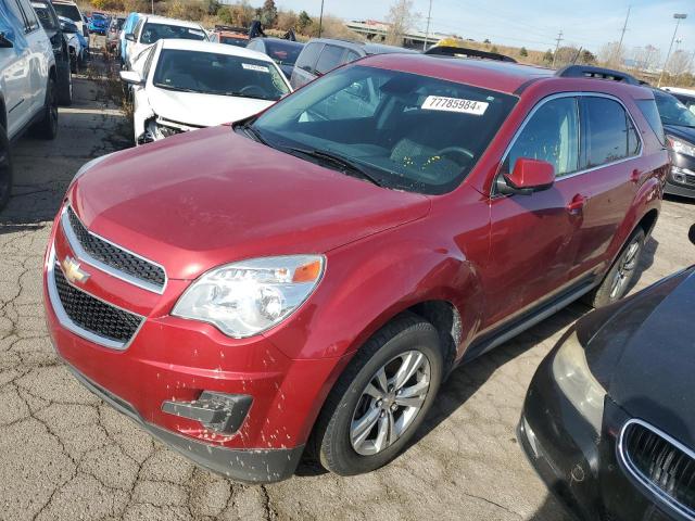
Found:
[[671, 508], [695, 519], [695, 453], [642, 420], [620, 435], [620, 456], [630, 473]]

